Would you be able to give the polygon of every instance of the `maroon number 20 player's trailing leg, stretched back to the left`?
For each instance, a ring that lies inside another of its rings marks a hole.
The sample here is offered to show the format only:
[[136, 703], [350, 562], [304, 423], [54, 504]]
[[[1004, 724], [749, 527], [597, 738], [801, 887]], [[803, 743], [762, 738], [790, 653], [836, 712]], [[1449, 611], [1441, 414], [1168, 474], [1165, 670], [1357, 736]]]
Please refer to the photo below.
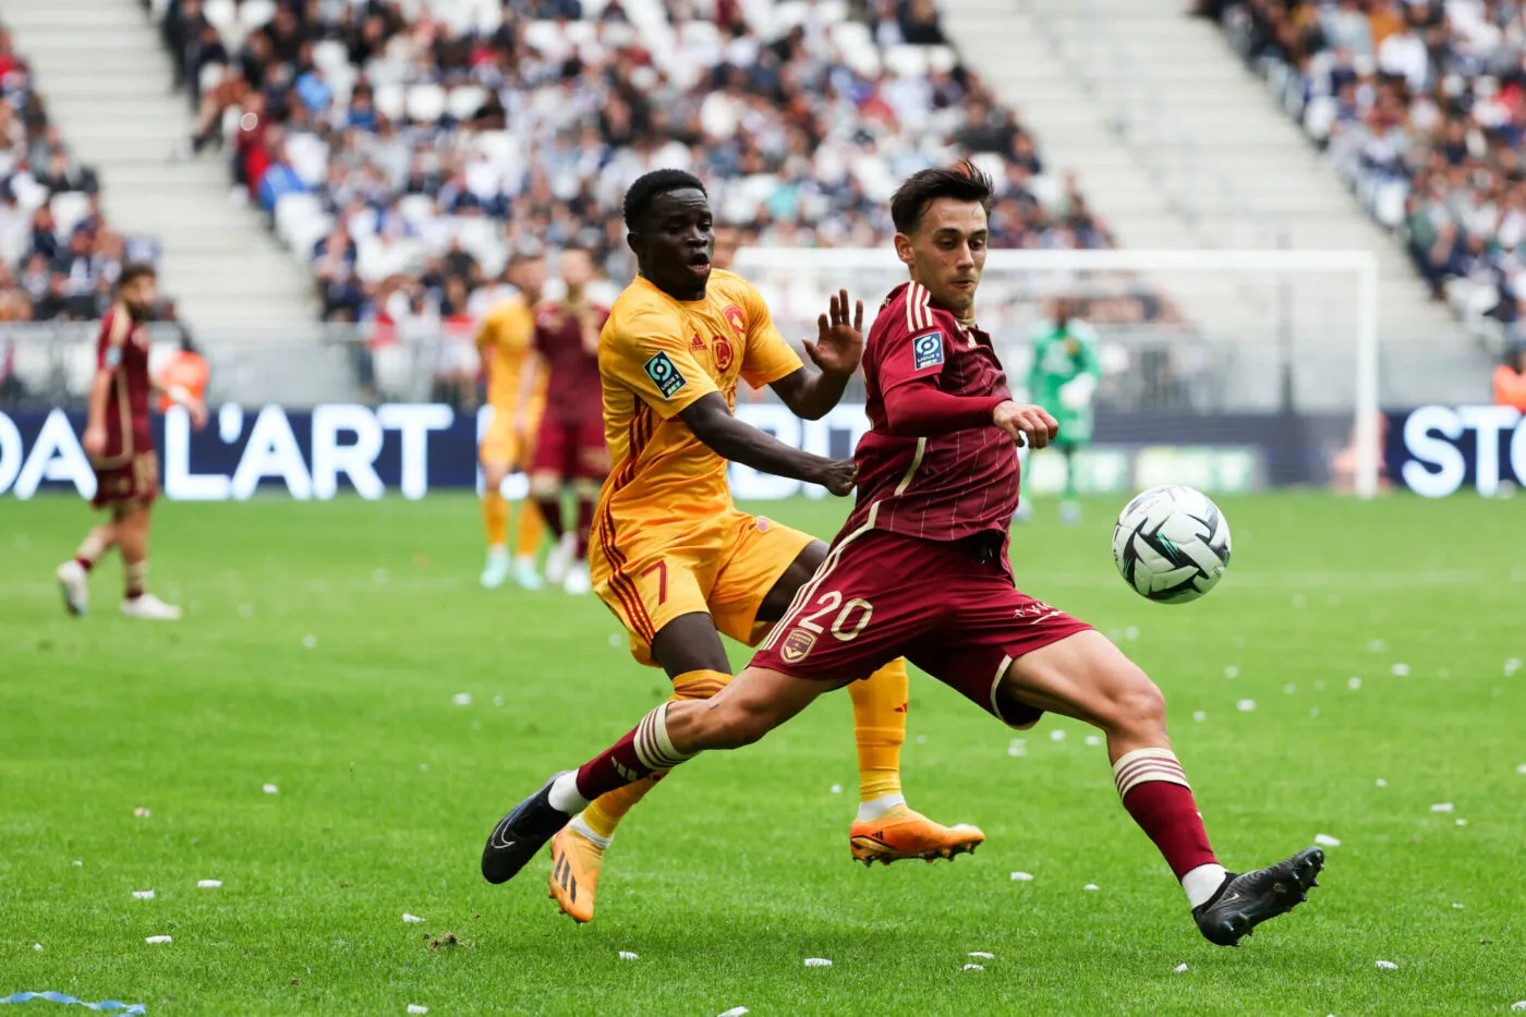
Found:
[[[499, 820], [482, 849], [482, 877], [488, 883], [511, 880], [600, 796], [671, 770], [700, 751], [751, 745], [841, 684], [748, 667], [708, 699], [662, 702], [618, 742], [578, 770], [555, 774]], [[575, 883], [569, 893], [577, 893]]]

